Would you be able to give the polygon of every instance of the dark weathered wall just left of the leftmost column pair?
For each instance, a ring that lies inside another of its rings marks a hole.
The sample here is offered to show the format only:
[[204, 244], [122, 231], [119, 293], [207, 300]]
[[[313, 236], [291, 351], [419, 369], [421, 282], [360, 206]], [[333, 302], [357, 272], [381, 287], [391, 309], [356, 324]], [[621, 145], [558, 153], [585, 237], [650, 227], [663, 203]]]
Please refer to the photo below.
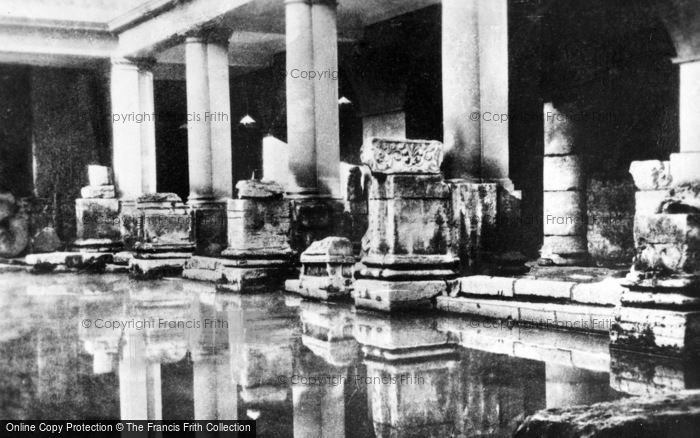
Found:
[[41, 215], [35, 220], [69, 242], [87, 165], [109, 165], [105, 82], [93, 71], [32, 68], [30, 84], [35, 211]]

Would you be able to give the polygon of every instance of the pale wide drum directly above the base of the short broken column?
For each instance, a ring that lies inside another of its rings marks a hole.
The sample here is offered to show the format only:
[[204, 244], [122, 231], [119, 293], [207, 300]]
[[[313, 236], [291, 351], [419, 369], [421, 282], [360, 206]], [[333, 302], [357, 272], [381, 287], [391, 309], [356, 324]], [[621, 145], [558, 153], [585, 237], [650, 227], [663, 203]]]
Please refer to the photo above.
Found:
[[544, 192], [543, 225], [548, 236], [586, 234], [585, 194], [577, 191]]

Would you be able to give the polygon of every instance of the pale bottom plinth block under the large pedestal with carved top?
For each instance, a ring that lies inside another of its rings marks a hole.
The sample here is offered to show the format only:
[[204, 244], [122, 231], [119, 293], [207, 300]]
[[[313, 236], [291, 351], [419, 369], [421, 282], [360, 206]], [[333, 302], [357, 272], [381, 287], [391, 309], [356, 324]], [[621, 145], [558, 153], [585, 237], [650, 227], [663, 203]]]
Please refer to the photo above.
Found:
[[355, 306], [391, 312], [402, 309], [431, 308], [432, 299], [448, 290], [446, 281], [355, 281]]

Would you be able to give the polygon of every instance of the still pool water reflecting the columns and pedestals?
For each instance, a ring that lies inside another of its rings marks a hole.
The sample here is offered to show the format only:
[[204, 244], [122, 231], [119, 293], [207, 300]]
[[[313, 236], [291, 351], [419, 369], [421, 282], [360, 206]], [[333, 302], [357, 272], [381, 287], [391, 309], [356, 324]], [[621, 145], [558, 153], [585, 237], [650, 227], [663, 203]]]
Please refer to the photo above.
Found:
[[698, 387], [605, 336], [388, 317], [183, 280], [3, 276], [0, 418], [255, 419], [259, 436], [510, 436], [539, 409]]

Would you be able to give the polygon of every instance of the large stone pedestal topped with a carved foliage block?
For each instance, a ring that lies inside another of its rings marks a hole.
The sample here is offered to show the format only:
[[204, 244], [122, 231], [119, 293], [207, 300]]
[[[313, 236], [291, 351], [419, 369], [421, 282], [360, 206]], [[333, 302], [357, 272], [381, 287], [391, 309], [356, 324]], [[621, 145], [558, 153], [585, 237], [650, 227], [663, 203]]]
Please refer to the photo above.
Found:
[[392, 311], [431, 305], [456, 276], [451, 196], [439, 174], [442, 144], [368, 139], [369, 228], [353, 293], [359, 307]]

